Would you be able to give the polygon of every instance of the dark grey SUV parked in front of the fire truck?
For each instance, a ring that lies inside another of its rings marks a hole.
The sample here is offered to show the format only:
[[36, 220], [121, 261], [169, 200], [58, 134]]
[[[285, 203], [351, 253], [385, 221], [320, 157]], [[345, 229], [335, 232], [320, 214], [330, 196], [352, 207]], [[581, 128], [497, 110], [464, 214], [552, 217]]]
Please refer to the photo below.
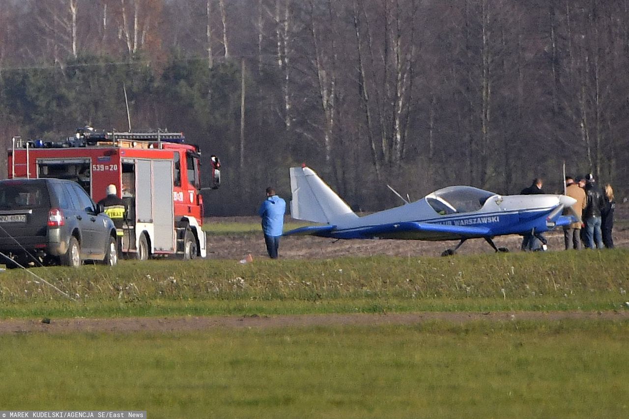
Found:
[[0, 181], [0, 252], [7, 267], [115, 265], [116, 227], [75, 182], [8, 179]]

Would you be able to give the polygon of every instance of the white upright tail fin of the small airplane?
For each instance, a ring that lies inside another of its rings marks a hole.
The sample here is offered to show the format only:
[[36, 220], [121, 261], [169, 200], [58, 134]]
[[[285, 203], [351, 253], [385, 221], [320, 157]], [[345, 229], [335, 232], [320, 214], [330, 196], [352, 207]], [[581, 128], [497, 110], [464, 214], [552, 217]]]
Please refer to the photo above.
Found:
[[337, 223], [357, 218], [343, 199], [308, 167], [291, 167], [291, 216], [315, 223]]

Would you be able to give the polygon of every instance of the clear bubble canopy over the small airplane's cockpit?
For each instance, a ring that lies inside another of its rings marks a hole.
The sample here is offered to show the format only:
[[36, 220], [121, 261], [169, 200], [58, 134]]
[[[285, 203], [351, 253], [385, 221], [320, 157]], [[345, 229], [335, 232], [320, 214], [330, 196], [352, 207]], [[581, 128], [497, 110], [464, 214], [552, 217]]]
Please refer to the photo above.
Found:
[[426, 196], [426, 202], [441, 215], [470, 213], [480, 210], [495, 195], [472, 186], [448, 186]]

